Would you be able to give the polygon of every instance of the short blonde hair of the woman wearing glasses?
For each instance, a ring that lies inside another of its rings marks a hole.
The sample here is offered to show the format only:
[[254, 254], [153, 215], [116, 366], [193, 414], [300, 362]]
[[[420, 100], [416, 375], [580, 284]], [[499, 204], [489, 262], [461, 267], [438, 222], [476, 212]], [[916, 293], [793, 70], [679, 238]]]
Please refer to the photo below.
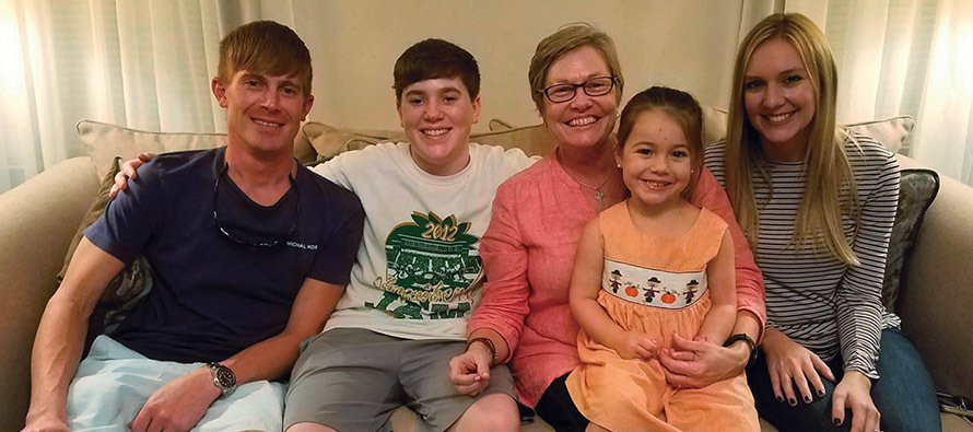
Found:
[[548, 70], [561, 56], [583, 46], [595, 48], [608, 65], [608, 73], [616, 79], [616, 103], [622, 101], [622, 90], [625, 87], [625, 79], [622, 77], [622, 67], [619, 62], [618, 50], [614, 49], [614, 40], [605, 32], [595, 28], [588, 23], [572, 23], [564, 25], [537, 44], [530, 67], [527, 68], [527, 80], [530, 81], [530, 97], [537, 105], [537, 110], [543, 115], [544, 105], [544, 79]]

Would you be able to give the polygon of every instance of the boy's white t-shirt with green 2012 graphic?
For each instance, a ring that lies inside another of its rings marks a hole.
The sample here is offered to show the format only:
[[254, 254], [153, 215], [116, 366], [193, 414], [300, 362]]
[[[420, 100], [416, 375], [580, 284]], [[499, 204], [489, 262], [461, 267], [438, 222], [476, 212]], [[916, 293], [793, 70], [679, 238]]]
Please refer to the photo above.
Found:
[[461, 172], [435, 176], [409, 143], [351, 151], [314, 171], [357, 194], [365, 226], [351, 282], [325, 331], [366, 328], [405, 339], [466, 339], [480, 300], [480, 236], [501, 183], [535, 160], [470, 144]]

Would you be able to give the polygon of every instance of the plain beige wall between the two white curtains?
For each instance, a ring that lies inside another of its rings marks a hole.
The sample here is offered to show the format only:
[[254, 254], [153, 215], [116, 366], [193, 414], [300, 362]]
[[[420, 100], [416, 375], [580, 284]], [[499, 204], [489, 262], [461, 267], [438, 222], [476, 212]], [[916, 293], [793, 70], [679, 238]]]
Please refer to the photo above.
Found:
[[[540, 121], [529, 97], [527, 65], [537, 43], [559, 26], [591, 23], [611, 35], [625, 74], [623, 102], [664, 84], [725, 107], [737, 40], [772, 11], [771, 0], [727, 1], [312, 1], [293, 0], [293, 20], [314, 58], [309, 118], [354, 128], [398, 128], [391, 70], [410, 45], [438, 37], [478, 59], [491, 118]], [[283, 17], [283, 16], [282, 16]]]

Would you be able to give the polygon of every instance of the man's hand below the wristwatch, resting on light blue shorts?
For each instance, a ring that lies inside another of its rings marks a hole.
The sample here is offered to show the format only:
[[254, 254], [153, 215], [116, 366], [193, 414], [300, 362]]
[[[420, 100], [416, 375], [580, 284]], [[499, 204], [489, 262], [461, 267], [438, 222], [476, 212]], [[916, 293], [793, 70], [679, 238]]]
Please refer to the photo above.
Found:
[[188, 431], [220, 395], [212, 373], [197, 369], [155, 390], [129, 428], [132, 432]]

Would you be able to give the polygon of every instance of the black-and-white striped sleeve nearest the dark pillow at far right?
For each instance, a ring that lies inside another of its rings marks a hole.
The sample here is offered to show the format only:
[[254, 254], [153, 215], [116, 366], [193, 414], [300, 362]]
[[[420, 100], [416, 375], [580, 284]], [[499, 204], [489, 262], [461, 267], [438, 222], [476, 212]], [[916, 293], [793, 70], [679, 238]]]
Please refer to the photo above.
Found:
[[[837, 330], [845, 371], [859, 371], [876, 380], [881, 338], [881, 289], [889, 237], [899, 202], [899, 162], [891, 154], [876, 175], [871, 192], [860, 202], [858, 232], [852, 250], [860, 265], [849, 266], [837, 288]], [[860, 183], [860, 182], [859, 182]]]

